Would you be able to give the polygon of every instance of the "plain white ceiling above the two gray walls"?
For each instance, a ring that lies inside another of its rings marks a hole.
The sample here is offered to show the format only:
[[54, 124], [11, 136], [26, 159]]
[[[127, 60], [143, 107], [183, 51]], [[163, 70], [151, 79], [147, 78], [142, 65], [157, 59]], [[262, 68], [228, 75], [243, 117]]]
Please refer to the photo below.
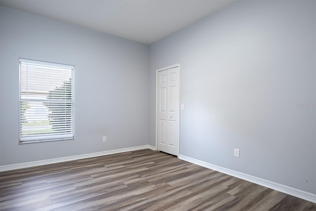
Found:
[[0, 0], [0, 4], [146, 44], [236, 0]]

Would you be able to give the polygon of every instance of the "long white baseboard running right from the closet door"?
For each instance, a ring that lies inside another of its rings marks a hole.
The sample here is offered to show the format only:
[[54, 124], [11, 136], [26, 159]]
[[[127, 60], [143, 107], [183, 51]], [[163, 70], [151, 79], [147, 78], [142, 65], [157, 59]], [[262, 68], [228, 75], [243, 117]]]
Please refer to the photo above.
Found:
[[181, 159], [181, 160], [188, 161], [190, 163], [197, 164], [199, 166], [205, 167], [207, 169], [216, 170], [216, 171], [219, 171], [219, 172], [231, 175], [231, 176], [235, 176], [237, 178], [240, 178], [240, 179], [243, 179], [243, 180], [246, 180], [246, 181], [258, 184], [258, 185], [265, 186], [267, 188], [274, 189], [276, 191], [279, 191], [279, 192], [282, 192], [282, 193], [285, 193], [285, 194], [289, 194], [291, 196], [295, 196], [295, 197], [298, 197], [298, 198], [301, 198], [301, 199], [304, 199], [304, 200], [316, 203], [316, 194], [313, 194], [313, 193], [302, 191], [302, 190], [299, 190], [299, 189], [296, 189], [296, 188], [292, 188], [292, 187], [289, 187], [289, 186], [286, 186], [286, 185], [282, 185], [282, 184], [279, 184], [279, 183], [276, 183], [276, 182], [272, 182], [272, 181], [269, 181], [269, 180], [266, 180], [266, 179], [262, 179], [262, 178], [259, 178], [259, 177], [251, 176], [249, 174], [241, 173], [239, 171], [235, 171], [235, 170], [232, 170], [232, 169], [226, 169], [226, 168], [223, 168], [223, 167], [220, 167], [220, 166], [209, 164], [209, 163], [206, 163], [204, 161], [200, 161], [200, 160], [197, 160], [197, 159], [194, 159], [194, 158], [190, 158], [190, 157], [187, 157], [187, 156], [184, 156], [184, 155], [179, 155], [178, 158]]

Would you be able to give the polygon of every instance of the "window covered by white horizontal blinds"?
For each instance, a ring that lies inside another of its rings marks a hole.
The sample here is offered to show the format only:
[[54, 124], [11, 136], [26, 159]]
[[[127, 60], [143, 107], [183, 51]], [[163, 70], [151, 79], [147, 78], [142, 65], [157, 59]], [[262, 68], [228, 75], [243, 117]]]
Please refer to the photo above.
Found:
[[20, 143], [74, 138], [74, 66], [20, 59]]

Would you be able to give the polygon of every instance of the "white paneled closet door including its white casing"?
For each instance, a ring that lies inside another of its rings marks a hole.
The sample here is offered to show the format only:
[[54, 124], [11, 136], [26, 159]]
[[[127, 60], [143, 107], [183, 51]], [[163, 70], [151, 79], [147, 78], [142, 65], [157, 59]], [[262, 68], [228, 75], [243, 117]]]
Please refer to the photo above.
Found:
[[157, 70], [156, 145], [159, 151], [179, 155], [180, 65]]

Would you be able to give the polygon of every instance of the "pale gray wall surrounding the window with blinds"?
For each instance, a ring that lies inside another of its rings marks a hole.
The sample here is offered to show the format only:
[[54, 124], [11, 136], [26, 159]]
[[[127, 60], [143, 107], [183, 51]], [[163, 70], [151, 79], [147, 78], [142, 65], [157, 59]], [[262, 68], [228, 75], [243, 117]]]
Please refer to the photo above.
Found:
[[[75, 140], [18, 144], [19, 57], [75, 65]], [[0, 166], [147, 145], [148, 69], [148, 45], [1, 6]]]

